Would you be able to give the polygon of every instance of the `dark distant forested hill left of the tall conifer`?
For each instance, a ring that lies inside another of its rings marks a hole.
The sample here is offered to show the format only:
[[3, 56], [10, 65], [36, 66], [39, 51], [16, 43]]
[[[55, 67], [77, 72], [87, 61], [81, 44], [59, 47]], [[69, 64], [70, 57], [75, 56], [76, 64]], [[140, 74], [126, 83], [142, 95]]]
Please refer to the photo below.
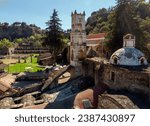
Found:
[[27, 38], [42, 33], [43, 31], [34, 24], [28, 25], [25, 22], [15, 22], [11, 25], [6, 22], [0, 23], [0, 40], [7, 38], [13, 41], [16, 38]]

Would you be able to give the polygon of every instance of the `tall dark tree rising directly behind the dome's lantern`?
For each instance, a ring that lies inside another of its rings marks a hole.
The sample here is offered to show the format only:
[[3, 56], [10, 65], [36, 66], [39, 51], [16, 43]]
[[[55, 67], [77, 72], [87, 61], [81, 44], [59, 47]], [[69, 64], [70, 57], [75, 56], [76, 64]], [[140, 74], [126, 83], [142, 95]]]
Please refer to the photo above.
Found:
[[[135, 0], [117, 0], [117, 5], [113, 10], [113, 16], [110, 18], [112, 29], [108, 33], [108, 39], [111, 40], [111, 50], [114, 52], [123, 45], [123, 36], [125, 34], [134, 34], [137, 37], [137, 45], [141, 47], [143, 33], [139, 27], [139, 21], [136, 14]], [[110, 37], [109, 37], [110, 36]]]

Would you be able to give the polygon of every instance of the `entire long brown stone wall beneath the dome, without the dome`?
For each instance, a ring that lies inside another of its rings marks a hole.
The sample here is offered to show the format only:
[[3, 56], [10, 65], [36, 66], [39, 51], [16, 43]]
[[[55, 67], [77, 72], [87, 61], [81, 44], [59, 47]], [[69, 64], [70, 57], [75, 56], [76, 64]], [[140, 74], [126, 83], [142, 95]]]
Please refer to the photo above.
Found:
[[110, 87], [127, 89], [137, 85], [139, 88], [144, 87], [150, 90], [150, 73], [146, 71], [128, 70], [91, 59], [86, 59], [83, 71], [84, 76], [94, 78], [96, 85], [104, 83]]

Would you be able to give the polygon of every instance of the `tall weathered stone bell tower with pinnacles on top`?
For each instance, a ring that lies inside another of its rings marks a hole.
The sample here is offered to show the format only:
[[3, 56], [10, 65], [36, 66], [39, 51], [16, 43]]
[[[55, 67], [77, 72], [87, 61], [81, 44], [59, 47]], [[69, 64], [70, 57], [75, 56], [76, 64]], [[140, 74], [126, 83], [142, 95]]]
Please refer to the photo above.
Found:
[[70, 34], [70, 64], [75, 67], [75, 74], [82, 74], [82, 61], [86, 58], [85, 12], [71, 14], [72, 30]]

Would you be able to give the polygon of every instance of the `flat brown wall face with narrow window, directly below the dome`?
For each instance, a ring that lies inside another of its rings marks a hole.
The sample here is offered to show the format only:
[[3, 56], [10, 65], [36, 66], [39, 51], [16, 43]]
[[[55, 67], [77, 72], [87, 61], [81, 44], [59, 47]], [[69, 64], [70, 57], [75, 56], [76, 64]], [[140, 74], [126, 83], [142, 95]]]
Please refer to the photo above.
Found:
[[126, 87], [139, 85], [149, 87], [150, 74], [144, 71], [131, 71], [112, 65], [104, 65], [103, 82], [109, 86]]

